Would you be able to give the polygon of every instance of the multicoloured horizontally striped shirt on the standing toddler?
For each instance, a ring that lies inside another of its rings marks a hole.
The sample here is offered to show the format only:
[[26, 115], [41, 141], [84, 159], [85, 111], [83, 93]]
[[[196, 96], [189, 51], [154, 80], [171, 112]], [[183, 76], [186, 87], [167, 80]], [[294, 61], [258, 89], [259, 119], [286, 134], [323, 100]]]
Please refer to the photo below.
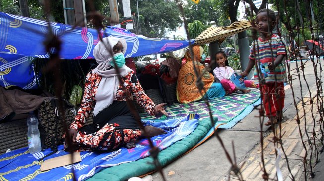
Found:
[[[259, 53], [258, 53], [259, 49]], [[273, 34], [271, 39], [258, 40], [252, 42], [250, 47], [251, 60], [255, 61], [255, 65], [259, 65], [260, 78], [265, 78], [266, 83], [284, 82], [285, 81], [285, 66], [283, 62], [276, 66], [274, 72], [270, 72], [268, 63], [274, 61], [278, 55], [286, 56], [286, 47], [284, 40], [276, 34]], [[254, 70], [255, 84], [259, 84], [258, 72]]]

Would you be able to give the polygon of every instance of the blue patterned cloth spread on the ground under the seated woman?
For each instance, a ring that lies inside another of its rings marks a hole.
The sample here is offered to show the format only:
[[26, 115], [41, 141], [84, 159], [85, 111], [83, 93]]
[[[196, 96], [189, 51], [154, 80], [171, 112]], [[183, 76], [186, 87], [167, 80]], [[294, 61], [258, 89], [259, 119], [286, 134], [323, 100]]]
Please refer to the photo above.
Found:
[[[155, 136], [151, 140], [160, 150], [163, 150], [175, 142], [187, 137], [198, 125], [197, 119], [187, 120], [187, 117], [169, 119], [162, 122], [146, 120], [146, 124], [160, 127], [167, 131], [167, 134]], [[50, 158], [68, 154], [63, 151], [63, 146], [59, 146], [57, 153], [47, 157]], [[0, 155], [0, 179], [1, 180], [33, 180], [33, 181], [68, 181], [73, 177], [78, 181], [85, 180], [100, 170], [129, 163], [149, 156], [149, 144], [147, 139], [142, 139], [137, 143], [137, 147], [126, 149], [124, 147], [113, 152], [81, 152], [82, 161], [77, 164], [67, 165], [42, 172], [41, 162], [37, 161], [44, 155], [51, 152], [30, 154], [27, 148], [15, 150]], [[71, 172], [74, 168], [74, 173]]]

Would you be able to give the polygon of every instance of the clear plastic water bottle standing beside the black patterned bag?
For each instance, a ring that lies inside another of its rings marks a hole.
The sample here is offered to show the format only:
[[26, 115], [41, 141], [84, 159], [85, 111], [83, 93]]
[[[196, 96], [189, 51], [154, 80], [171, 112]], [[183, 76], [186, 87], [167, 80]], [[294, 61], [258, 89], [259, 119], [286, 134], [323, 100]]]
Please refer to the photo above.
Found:
[[31, 154], [42, 150], [41, 137], [38, 130], [38, 119], [34, 112], [30, 112], [27, 118], [28, 125], [28, 150]]

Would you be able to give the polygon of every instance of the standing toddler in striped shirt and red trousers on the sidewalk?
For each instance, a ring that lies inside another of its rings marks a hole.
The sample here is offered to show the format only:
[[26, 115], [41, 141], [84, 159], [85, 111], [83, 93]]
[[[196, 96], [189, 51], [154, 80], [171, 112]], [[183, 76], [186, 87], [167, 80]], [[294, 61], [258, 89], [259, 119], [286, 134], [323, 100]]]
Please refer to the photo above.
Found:
[[269, 121], [265, 125], [275, 124], [282, 119], [285, 100], [283, 86], [285, 68], [282, 60], [286, 56], [286, 50], [283, 40], [278, 35], [271, 33], [276, 24], [274, 11], [259, 10], [256, 16], [256, 25], [260, 37], [253, 41], [250, 49], [250, 61], [241, 74], [241, 76], [248, 75], [251, 69], [257, 65], [254, 71], [255, 83], [259, 82], [259, 78], [265, 81], [260, 84], [265, 114], [269, 117]]

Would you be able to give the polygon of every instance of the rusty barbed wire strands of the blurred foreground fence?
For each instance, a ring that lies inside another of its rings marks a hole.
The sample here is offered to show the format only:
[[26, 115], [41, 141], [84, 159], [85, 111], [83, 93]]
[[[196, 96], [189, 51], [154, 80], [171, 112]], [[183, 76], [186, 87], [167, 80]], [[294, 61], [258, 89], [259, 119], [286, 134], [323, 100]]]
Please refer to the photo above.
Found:
[[[48, 0], [45, 0], [44, 1], [44, 6], [45, 6], [45, 11], [46, 11], [46, 16], [47, 16], [47, 19], [50, 19], [50, 4], [49, 4], [49, 1]], [[187, 27], [187, 22], [186, 22], [186, 18], [185, 18], [185, 14], [183, 12], [183, 9], [182, 9], [182, 4], [179, 0], [177, 0], [178, 2], [178, 6], [179, 6], [179, 11], [180, 11], [180, 14], [181, 16], [183, 17], [184, 19], [184, 24], [185, 24], [185, 29], [186, 29], [186, 33], [187, 33], [187, 38], [190, 39], [189, 37], [189, 32], [188, 32], [188, 27]], [[318, 9], [320, 9], [320, 7], [322, 7], [324, 4], [323, 4], [323, 1], [321, 0], [313, 0], [313, 1], [309, 1], [309, 0], [305, 0], [304, 2], [304, 5], [305, 5], [305, 9], [307, 11], [306, 14], [302, 14], [303, 11], [301, 10], [301, 7], [299, 6], [298, 4], [298, 1], [295, 0], [295, 19], [292, 20], [292, 23], [296, 24], [297, 25], [297, 36], [298, 37], [303, 37], [304, 40], [305, 40], [305, 32], [304, 30], [305, 29], [309, 29], [309, 31], [311, 32], [311, 35], [312, 35], [312, 40], [315, 40], [315, 35], [323, 35], [323, 30], [320, 29], [319, 25], [323, 24], [324, 22], [322, 22], [322, 20], [320, 18], [315, 18], [315, 21], [312, 20], [312, 17], [311, 17], [311, 11], [312, 11], [312, 7], [313, 6], [316, 6]], [[288, 10], [287, 10], [287, 4], [288, 4], [288, 0], [284, 0], [283, 1], [283, 4], [284, 4], [284, 12], [285, 14], [278, 14], [279, 16], [288, 16]], [[96, 27], [96, 29], [98, 30], [98, 34], [100, 35], [100, 29], [101, 28], [104, 28], [102, 26], [102, 20], [103, 20], [103, 16], [100, 15], [98, 12], [95, 11], [94, 9], [94, 6], [93, 6], [93, 2], [90, 1], [89, 3], [90, 7], [91, 7], [91, 12], [87, 14], [88, 17], [92, 17], [91, 19], [93, 19], [93, 24], [94, 26]], [[279, 7], [279, 0], [276, 0], [276, 3], [274, 4], [277, 8], [282, 8], [282, 7]], [[250, 12], [253, 12], [252, 10], [250, 10]], [[318, 16], [320, 17], [322, 13], [322, 16], [323, 16], [323, 12], [318, 12], [318, 14], [315, 14], [315, 16]], [[290, 17], [293, 17], [292, 15]], [[303, 22], [302, 18], [300, 17], [307, 17], [308, 21], [310, 22], [310, 25], [309, 27], [305, 27], [305, 23]], [[257, 34], [258, 34], [258, 31], [257, 31], [257, 28], [256, 28], [256, 25], [253, 21], [254, 19], [254, 15], [253, 14], [250, 14], [248, 19], [251, 21], [252, 23], [252, 28], [251, 28], [251, 31], [252, 31], [252, 37], [253, 39], [257, 39]], [[297, 22], [297, 20], [299, 20], [300, 22]], [[78, 22], [76, 23], [76, 25], [78, 24]], [[288, 26], [286, 27], [287, 30], [289, 32], [292, 32], [292, 31], [295, 31], [295, 26], [292, 26], [291, 25], [291, 22], [288, 21]], [[314, 25], [317, 25], [317, 27], [315, 27]], [[60, 53], [60, 48], [61, 48], [61, 42], [59, 40], [59, 38], [57, 36], [55, 36], [53, 34], [53, 32], [51, 31], [51, 27], [50, 27], [50, 24], [48, 25], [49, 26], [49, 34], [48, 34], [48, 41], [47, 43], [45, 44], [46, 48], [47, 48], [47, 51], [50, 53], [50, 61], [49, 61], [49, 64], [47, 65], [47, 67], [43, 70], [43, 71], [53, 71], [54, 75], [55, 75], [55, 86], [56, 86], [56, 97], [58, 98], [59, 100], [59, 109], [61, 110], [61, 112], [63, 113], [62, 114], [62, 118], [64, 120], [64, 128], [65, 128], [65, 131], [67, 130], [68, 126], [66, 125], [65, 123], [65, 114], [64, 114], [64, 109], [62, 107], [62, 101], [61, 101], [61, 84], [59, 82], [59, 71], [60, 69], [58, 68], [58, 63], [60, 62], [60, 59], [59, 59], [59, 53]], [[75, 28], [75, 26], [74, 26]], [[278, 29], [278, 32], [279, 34], [281, 33], [280, 30]], [[100, 37], [100, 39], [102, 39], [102, 37]], [[283, 40], [282, 40], [283, 41]], [[307, 45], [306, 45], [307, 46]], [[290, 84], [290, 87], [291, 87], [291, 90], [292, 90], [292, 97], [293, 97], [293, 103], [294, 103], [294, 106], [295, 106], [295, 110], [296, 110], [296, 123], [298, 124], [298, 129], [299, 129], [299, 135], [301, 137], [301, 144], [303, 145], [303, 149], [305, 150], [305, 155], [303, 156], [303, 159], [302, 159], [302, 163], [303, 163], [303, 166], [304, 166], [304, 179], [307, 180], [307, 177], [308, 177], [308, 173], [310, 173], [310, 177], [314, 177], [314, 172], [312, 170], [312, 168], [319, 162], [319, 158], [318, 158], [318, 155], [322, 152], [323, 148], [321, 150], [317, 150], [317, 142], [320, 142], [323, 144], [323, 139], [324, 139], [324, 135], [323, 135], [323, 132], [324, 132], [324, 123], [323, 123], [323, 115], [324, 115], [324, 108], [323, 108], [323, 88], [322, 88], [322, 65], [321, 65], [321, 62], [320, 62], [320, 57], [318, 56], [319, 52], [318, 52], [318, 49], [314, 48], [316, 47], [314, 45], [314, 42], [313, 42], [313, 48], [311, 47], [308, 47], [311, 51], [314, 52], [315, 55], [312, 55], [310, 58], [311, 58], [311, 62], [312, 62], [312, 65], [313, 65], [313, 70], [314, 70], [314, 75], [315, 75], [315, 80], [316, 80], [316, 92], [311, 92], [311, 88], [310, 86], [308, 85], [307, 83], [307, 80], [306, 80], [306, 74], [304, 72], [304, 64], [305, 64], [305, 60], [303, 60], [301, 57], [299, 58], [299, 60], [301, 61], [301, 66], [298, 65], [297, 61], [296, 61], [296, 69], [290, 69], [290, 64], [288, 62], [286, 62], [286, 68], [287, 68], [287, 78], [288, 78], [288, 83]], [[259, 48], [259, 45], [256, 45], [255, 48]], [[298, 49], [300, 49], [300, 47], [298, 46]], [[54, 50], [54, 51], [53, 51]], [[110, 52], [112, 53], [112, 52]], [[192, 47], [190, 46], [190, 55], [193, 59], [193, 51], [192, 51]], [[193, 63], [195, 63], [193, 61]], [[114, 64], [115, 61], [114, 61]], [[201, 77], [203, 75], [203, 72], [200, 72], [199, 69], [196, 68], [197, 65], [194, 64], [194, 71], [195, 71], [195, 74], [196, 76], [198, 77], [198, 82], [196, 83], [198, 88], [199, 88], [199, 93], [200, 94], [203, 94], [206, 92], [206, 90], [203, 89], [203, 83], [201, 81]], [[117, 67], [117, 66], [115, 66]], [[257, 72], [259, 72], [259, 68], [258, 66], [255, 67], [257, 69]], [[295, 70], [297, 72], [297, 75], [296, 74], [292, 74], [292, 71]], [[318, 72], [319, 71], [319, 72]], [[117, 69], [117, 72], [119, 73], [119, 70]], [[258, 76], [259, 76], [259, 73], [258, 73]], [[296, 80], [298, 78], [298, 81], [299, 81], [299, 86], [300, 86], [300, 95], [296, 95], [295, 94], [295, 89], [294, 89], [294, 86], [293, 86], [293, 80]], [[304, 95], [302, 94], [303, 91], [302, 90], [305, 90], [305, 89], [302, 89], [302, 79], [306, 82], [306, 86], [307, 86], [307, 90], [308, 90], [308, 95], [309, 95], [309, 101], [305, 102], [304, 100]], [[120, 83], [121, 83], [121, 79], [119, 79]], [[262, 84], [264, 84], [264, 78], [260, 77], [259, 76], [259, 82]], [[123, 84], [121, 84], [123, 85]], [[125, 89], [125, 88], [123, 88]], [[260, 86], [260, 92], [262, 94], [262, 88]], [[277, 96], [279, 96], [277, 94]], [[301, 98], [299, 98], [298, 96], [300, 96]], [[300, 116], [300, 110], [298, 108], [298, 99], [301, 100], [302, 102], [302, 116]], [[316, 101], [314, 101], [316, 100]], [[135, 110], [135, 107], [130, 103], [130, 100], [127, 100], [128, 102], [128, 106], [130, 107], [130, 110], [134, 113], [135, 117], [136, 117], [136, 120], [138, 122], [138, 124], [140, 125], [140, 127], [142, 128], [142, 130], [145, 131], [145, 129], [143, 129], [143, 125], [140, 121], [140, 117], [137, 113], [137, 111]], [[206, 102], [206, 105], [209, 109], [209, 115], [210, 115], [210, 120], [212, 122], [212, 124], [215, 124], [214, 123], [214, 119], [213, 119], [213, 115], [212, 115], [212, 112], [210, 110], [210, 105], [209, 105], [209, 102], [208, 100], [205, 100]], [[314, 104], [315, 106], [317, 107], [317, 113], [319, 114], [319, 118], [315, 116], [316, 113], [314, 113], [313, 111], [313, 108], [314, 108]], [[307, 133], [307, 127], [306, 127], [306, 123], [307, 121], [309, 120], [306, 120], [306, 109], [305, 109], [305, 106], [307, 105], [310, 105], [310, 110], [311, 110], [311, 117], [312, 117], [312, 132], [311, 132], [311, 136], [308, 135]], [[303, 122], [302, 122], [302, 119], [303, 119]], [[264, 123], [264, 120], [265, 120], [265, 116], [264, 116], [264, 110], [263, 110], [263, 106], [261, 105], [260, 106], [260, 109], [259, 109], [259, 122], [260, 122], [260, 125], [263, 125]], [[301, 127], [303, 125], [301, 124], [304, 124], [304, 128], [302, 129]], [[320, 131], [319, 133], [317, 134], [317, 131], [316, 131], [316, 128], [319, 127]], [[285, 160], [286, 160], [286, 163], [287, 163], [287, 168], [289, 170], [289, 173], [290, 173], [290, 176], [292, 180], [295, 180], [294, 178], [294, 175], [292, 174], [291, 170], [290, 170], [290, 167], [289, 167], [289, 161], [288, 161], [288, 156], [286, 155], [285, 153], [285, 149], [284, 149], [284, 145], [283, 145], [283, 136], [284, 136], [284, 133], [282, 133], [282, 127], [281, 127], [281, 122], [279, 122], [279, 130], [276, 130], [274, 125], [272, 126], [272, 132], [274, 133], [274, 137], [273, 137], [273, 142], [274, 142], [274, 148], [278, 148], [279, 146], [281, 147], [281, 150], [283, 151], [283, 154], [284, 154], [284, 157], [285, 157]], [[306, 134], [306, 138], [303, 138], [304, 134], [302, 132], [302, 130], [305, 131], [305, 134]], [[263, 171], [263, 174], [262, 174], [262, 178], [264, 180], [269, 180], [269, 174], [267, 173], [266, 169], [265, 169], [265, 166], [266, 166], [266, 163], [264, 161], [264, 148], [263, 148], [263, 145], [264, 145], [264, 140], [263, 140], [263, 128], [261, 126], [261, 132], [260, 132], [260, 142], [261, 142], [261, 160], [262, 160], [262, 165], [261, 165], [261, 168], [262, 168], [262, 171]], [[144, 133], [144, 135], [146, 135], [146, 133]], [[214, 136], [218, 139], [218, 141], [220, 142], [222, 148], [224, 149], [224, 152], [225, 152], [225, 155], [228, 159], [228, 161], [230, 162], [231, 164], [231, 167], [230, 167], [230, 170], [229, 170], [229, 173], [230, 174], [234, 174], [234, 176], [236, 176], [237, 178], [239, 178], [240, 180], [243, 180], [243, 175], [242, 175], [242, 166], [239, 167], [237, 165], [237, 162], [236, 162], [236, 157], [235, 157], [235, 150], [234, 150], [234, 143], [232, 143], [232, 146], [233, 146], [233, 156], [234, 158], [232, 158], [229, 154], [229, 152], [227, 151], [227, 149], [225, 148], [224, 146], [224, 143], [221, 139], [221, 137], [218, 135], [218, 132], [214, 132]], [[69, 137], [69, 136], [67, 136]], [[304, 140], [305, 139], [305, 140]], [[157, 154], [158, 154], [158, 149], [156, 147], [153, 146], [153, 143], [150, 139], [149, 140], [149, 144], [150, 144], [150, 147], [151, 147], [151, 155], [153, 156], [154, 158], [154, 164], [156, 165], [156, 168], [159, 170], [159, 172], [161, 173], [162, 175], [162, 178], [163, 180], [165, 180], [165, 177], [163, 175], [163, 172], [162, 172], [162, 168], [157, 160]], [[67, 141], [71, 141], [71, 140], [67, 140]], [[310, 150], [310, 154], [308, 154], [308, 150]], [[309, 155], [309, 158], [307, 158], [307, 156]], [[315, 157], [315, 162], [313, 163], [312, 160], [313, 160], [313, 157]], [[243, 165], [243, 164], [242, 164]], [[308, 172], [308, 170], [310, 170], [310, 172]], [[74, 173], [74, 171], [73, 171]], [[73, 178], [75, 180], [75, 178]]]

